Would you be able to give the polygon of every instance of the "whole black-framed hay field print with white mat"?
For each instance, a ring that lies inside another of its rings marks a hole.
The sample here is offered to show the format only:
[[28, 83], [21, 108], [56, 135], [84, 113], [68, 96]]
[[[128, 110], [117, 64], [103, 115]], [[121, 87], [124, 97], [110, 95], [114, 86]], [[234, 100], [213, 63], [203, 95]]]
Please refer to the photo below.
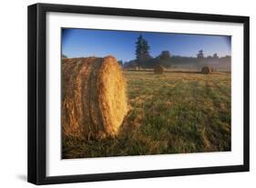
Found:
[[249, 171], [249, 17], [28, 6], [28, 182]]

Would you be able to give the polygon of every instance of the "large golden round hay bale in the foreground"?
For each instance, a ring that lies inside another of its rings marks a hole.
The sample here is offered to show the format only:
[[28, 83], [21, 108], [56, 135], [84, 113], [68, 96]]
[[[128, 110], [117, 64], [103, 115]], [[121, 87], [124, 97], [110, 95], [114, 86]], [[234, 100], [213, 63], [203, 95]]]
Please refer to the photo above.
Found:
[[113, 56], [62, 60], [62, 131], [81, 139], [118, 134], [128, 113], [126, 81]]

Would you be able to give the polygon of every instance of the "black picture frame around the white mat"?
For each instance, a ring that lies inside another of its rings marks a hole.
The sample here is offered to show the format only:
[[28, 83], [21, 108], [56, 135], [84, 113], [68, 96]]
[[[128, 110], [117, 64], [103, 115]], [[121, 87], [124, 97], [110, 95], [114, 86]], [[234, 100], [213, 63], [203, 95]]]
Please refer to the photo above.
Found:
[[[243, 24], [243, 164], [215, 167], [152, 170], [124, 173], [71, 174], [46, 176], [46, 13], [122, 15], [177, 20], [199, 20]], [[133, 178], [247, 172], [250, 169], [249, 137], [249, 33], [250, 18], [237, 15], [207, 15], [152, 10], [94, 7], [81, 5], [36, 4], [28, 6], [28, 153], [27, 181], [35, 184], [80, 183]]]

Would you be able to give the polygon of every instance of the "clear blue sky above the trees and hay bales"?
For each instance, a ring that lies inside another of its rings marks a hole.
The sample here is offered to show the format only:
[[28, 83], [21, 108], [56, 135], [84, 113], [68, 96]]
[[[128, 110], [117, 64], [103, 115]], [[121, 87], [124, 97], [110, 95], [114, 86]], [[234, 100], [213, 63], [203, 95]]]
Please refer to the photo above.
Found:
[[62, 29], [62, 54], [68, 57], [112, 54], [118, 60], [129, 61], [135, 59], [135, 43], [138, 35], [142, 35], [148, 41], [149, 54], [153, 57], [163, 50], [169, 50], [172, 55], [184, 56], [196, 56], [201, 49], [205, 55], [231, 54], [230, 36], [73, 28]]

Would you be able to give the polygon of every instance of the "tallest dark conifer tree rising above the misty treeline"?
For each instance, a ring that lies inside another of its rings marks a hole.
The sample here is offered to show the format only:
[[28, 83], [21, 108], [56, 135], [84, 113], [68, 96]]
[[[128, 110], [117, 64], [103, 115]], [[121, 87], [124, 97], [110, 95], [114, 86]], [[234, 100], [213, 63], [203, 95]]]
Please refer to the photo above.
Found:
[[148, 60], [151, 56], [149, 55], [150, 46], [148, 45], [148, 41], [145, 40], [142, 35], [138, 36], [138, 40], [136, 42], [136, 60], [138, 64], [141, 64], [143, 61]]

